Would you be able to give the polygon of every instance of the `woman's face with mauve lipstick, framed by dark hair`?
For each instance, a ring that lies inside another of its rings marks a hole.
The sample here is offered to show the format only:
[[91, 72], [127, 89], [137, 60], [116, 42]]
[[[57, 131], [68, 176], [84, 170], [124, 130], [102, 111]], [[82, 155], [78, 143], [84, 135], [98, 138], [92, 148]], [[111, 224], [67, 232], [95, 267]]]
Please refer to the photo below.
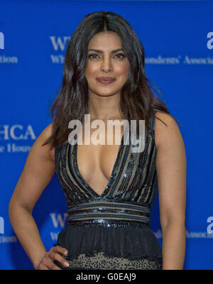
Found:
[[[119, 94], [129, 76], [129, 59], [122, 50], [121, 39], [114, 32], [97, 33], [89, 41], [85, 77], [89, 93], [102, 97]], [[107, 84], [99, 77], [114, 78]]]

